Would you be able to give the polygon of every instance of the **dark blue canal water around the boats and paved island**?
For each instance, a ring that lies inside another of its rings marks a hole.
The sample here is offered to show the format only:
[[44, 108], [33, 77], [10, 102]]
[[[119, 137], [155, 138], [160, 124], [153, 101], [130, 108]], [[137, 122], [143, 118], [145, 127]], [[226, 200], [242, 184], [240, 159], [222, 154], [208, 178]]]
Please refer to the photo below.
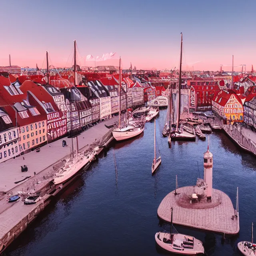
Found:
[[[68, 187], [4, 252], [8, 256], [50, 255], [168, 255], [156, 246], [154, 235], [169, 230], [157, 209], [178, 185], [196, 183], [198, 165], [203, 176], [203, 154], [208, 140], [172, 142], [163, 138], [166, 110], [156, 119], [162, 165], [151, 175], [154, 158], [154, 123], [144, 134], [114, 144], [89, 170]], [[240, 255], [237, 242], [250, 240], [256, 204], [256, 159], [238, 148], [223, 133], [210, 134], [213, 153], [213, 187], [236, 202], [239, 187], [240, 232], [226, 240], [210, 232], [176, 226], [195, 236], [208, 255]], [[114, 158], [116, 159], [116, 168]]]

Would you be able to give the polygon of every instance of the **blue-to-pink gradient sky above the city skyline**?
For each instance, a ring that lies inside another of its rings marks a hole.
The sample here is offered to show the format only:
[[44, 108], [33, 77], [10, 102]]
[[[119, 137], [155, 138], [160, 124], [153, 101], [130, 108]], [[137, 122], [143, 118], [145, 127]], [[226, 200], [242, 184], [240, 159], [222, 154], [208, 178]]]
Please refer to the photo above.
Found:
[[[123, 68], [256, 69], [256, 0], [1, 0], [0, 66], [78, 64], [116, 52]], [[118, 60], [116, 60], [118, 65]]]

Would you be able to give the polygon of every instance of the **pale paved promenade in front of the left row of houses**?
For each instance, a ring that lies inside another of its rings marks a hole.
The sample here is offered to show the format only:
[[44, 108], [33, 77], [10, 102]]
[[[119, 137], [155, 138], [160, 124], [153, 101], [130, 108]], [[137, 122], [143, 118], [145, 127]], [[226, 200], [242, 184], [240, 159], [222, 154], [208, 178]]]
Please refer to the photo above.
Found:
[[[105, 124], [110, 126], [116, 122], [118, 122], [118, 116], [84, 131], [78, 136], [79, 149], [85, 148], [94, 142], [100, 142], [102, 137], [109, 132]], [[66, 140], [68, 146], [63, 147], [62, 140]], [[40, 152], [34, 150], [23, 156], [0, 163], [0, 192], [12, 191], [15, 194], [21, 191], [22, 188], [26, 189], [26, 183], [31, 183], [32, 180], [42, 180], [43, 176], [50, 178], [54, 173], [51, 166], [62, 158], [67, 158], [70, 152], [71, 139], [65, 137], [43, 146], [40, 148]], [[21, 166], [24, 165], [28, 166], [28, 172], [21, 172]], [[34, 172], [36, 172], [36, 177], [34, 177]], [[31, 178], [18, 184], [14, 183], [23, 180], [27, 176], [31, 176]], [[22, 186], [20, 186], [21, 184]]]

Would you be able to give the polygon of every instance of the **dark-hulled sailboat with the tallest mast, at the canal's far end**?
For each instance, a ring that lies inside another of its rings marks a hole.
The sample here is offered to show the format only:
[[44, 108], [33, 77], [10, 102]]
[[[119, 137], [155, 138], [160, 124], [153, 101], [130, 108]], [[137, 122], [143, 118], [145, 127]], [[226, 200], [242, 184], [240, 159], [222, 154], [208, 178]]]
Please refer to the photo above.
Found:
[[180, 74], [179, 74], [179, 84], [178, 84], [178, 97], [177, 97], [177, 122], [176, 130], [171, 133], [171, 140], [196, 140], [196, 135], [184, 131], [183, 124], [180, 122], [180, 88], [181, 88], [181, 66], [182, 66], [182, 33], [181, 33], [181, 44], [180, 44]]

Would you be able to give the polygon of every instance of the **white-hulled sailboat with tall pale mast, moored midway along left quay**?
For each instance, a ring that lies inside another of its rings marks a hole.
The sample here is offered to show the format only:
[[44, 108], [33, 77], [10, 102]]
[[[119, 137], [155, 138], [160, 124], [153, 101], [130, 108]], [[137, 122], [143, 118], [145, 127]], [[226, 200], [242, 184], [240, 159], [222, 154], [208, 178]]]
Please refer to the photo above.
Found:
[[145, 123], [139, 122], [138, 124], [132, 125], [128, 124], [128, 126], [121, 128], [121, 83], [122, 83], [122, 70], [121, 70], [121, 57], [119, 60], [119, 123], [118, 128], [115, 128], [112, 131], [113, 137], [115, 140], [121, 141], [121, 140], [128, 140], [130, 138], [133, 138], [135, 136], [138, 136], [144, 131]]

